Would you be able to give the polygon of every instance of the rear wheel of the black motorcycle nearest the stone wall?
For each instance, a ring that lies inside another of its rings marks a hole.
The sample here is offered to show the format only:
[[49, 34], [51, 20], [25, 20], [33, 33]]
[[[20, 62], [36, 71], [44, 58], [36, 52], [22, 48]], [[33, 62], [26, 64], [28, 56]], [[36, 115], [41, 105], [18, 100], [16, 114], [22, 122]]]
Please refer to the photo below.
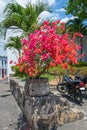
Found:
[[79, 89], [74, 90], [74, 100], [76, 103], [81, 103], [82, 102], [82, 93]]

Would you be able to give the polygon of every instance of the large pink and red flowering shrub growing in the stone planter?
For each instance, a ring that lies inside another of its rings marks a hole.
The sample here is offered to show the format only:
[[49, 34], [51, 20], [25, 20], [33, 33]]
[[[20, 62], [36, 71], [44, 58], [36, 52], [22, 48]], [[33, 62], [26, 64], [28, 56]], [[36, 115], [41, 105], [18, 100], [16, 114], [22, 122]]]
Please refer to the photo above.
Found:
[[61, 65], [67, 68], [71, 63], [76, 64], [81, 47], [74, 41], [81, 34], [76, 33], [71, 38], [64, 30], [64, 23], [60, 24], [60, 21], [45, 21], [38, 30], [28, 35], [28, 39], [22, 39], [22, 54], [16, 65], [20, 72], [37, 77], [50, 67]]

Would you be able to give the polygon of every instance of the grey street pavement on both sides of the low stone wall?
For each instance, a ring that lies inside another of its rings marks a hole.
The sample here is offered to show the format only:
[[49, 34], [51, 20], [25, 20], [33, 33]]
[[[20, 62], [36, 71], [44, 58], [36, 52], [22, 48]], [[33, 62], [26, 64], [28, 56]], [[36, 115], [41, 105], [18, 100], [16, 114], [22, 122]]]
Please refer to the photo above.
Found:
[[[70, 104], [84, 112], [84, 119], [67, 123], [58, 130], [87, 130], [87, 99], [84, 98], [81, 105], [71, 101]], [[7, 79], [0, 80], [0, 130], [31, 130], [10, 92]]]

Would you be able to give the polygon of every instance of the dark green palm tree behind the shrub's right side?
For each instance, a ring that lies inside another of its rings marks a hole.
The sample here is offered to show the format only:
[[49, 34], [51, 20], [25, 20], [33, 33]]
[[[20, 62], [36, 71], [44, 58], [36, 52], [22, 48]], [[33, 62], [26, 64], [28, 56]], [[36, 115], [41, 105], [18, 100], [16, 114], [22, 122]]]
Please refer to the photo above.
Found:
[[[83, 23], [79, 18], [74, 18], [66, 23], [66, 30], [73, 35], [75, 32], [87, 35], [87, 25]], [[80, 38], [80, 45], [82, 46], [81, 54], [83, 52], [83, 38]]]

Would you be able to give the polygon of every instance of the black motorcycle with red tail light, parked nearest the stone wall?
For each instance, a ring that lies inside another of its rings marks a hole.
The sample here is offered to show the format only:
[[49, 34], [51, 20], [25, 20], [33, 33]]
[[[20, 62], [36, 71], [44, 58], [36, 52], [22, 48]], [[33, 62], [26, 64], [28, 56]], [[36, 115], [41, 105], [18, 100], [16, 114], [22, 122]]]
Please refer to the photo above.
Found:
[[81, 103], [83, 99], [82, 89], [84, 83], [81, 80], [73, 80], [71, 77], [64, 75], [62, 82], [58, 83], [57, 90], [61, 93], [68, 93], [70, 97], [74, 99], [76, 103]]

